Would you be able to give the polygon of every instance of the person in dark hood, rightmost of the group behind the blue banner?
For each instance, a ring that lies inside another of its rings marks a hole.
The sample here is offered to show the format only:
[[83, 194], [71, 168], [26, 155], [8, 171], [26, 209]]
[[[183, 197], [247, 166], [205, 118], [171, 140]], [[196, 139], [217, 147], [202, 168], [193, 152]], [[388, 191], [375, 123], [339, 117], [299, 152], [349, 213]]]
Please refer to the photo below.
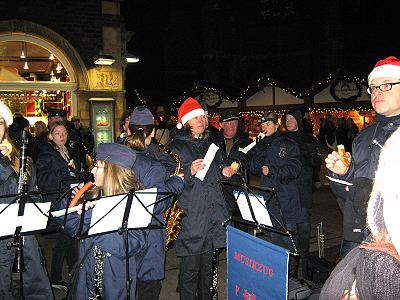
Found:
[[303, 276], [306, 276], [306, 259], [310, 248], [310, 216], [312, 206], [313, 170], [322, 162], [318, 140], [304, 131], [300, 110], [289, 111], [282, 118], [286, 134], [293, 139], [300, 149], [301, 173], [297, 178], [301, 204], [301, 222], [297, 224], [297, 241], [299, 243], [300, 260]]

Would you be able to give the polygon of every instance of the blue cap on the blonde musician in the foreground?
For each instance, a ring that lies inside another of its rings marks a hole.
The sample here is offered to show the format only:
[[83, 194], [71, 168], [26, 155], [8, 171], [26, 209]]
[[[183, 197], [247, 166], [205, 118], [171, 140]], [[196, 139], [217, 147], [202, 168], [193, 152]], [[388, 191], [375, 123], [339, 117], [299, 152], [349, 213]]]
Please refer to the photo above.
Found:
[[136, 152], [126, 145], [103, 143], [97, 148], [96, 159], [132, 169], [136, 161]]

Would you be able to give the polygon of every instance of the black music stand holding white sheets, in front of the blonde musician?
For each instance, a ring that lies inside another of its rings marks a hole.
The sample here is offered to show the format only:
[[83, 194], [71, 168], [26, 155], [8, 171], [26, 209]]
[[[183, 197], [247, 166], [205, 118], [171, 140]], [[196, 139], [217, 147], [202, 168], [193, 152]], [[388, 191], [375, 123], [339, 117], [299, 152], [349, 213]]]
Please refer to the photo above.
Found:
[[[158, 195], [163, 195], [161, 199], [157, 199]], [[134, 191], [129, 193], [101, 196], [96, 199], [84, 200], [82, 203], [82, 213], [79, 217], [79, 227], [75, 234], [71, 237], [77, 239], [86, 239], [96, 235], [104, 235], [112, 232], [118, 232], [123, 236], [125, 248], [125, 272], [126, 272], [126, 295], [130, 299], [130, 287], [132, 279], [129, 276], [129, 230], [151, 230], [165, 228], [164, 221], [154, 215], [154, 207], [157, 203], [166, 201], [170, 197], [176, 195], [173, 192], [158, 192], [157, 188]], [[87, 202], [95, 200], [96, 204], [89, 211], [91, 223], [85, 226], [85, 216], [88, 214], [85, 207]], [[65, 227], [68, 227], [68, 214], [75, 212], [76, 208], [67, 208], [60, 211], [52, 212], [55, 217], [63, 218]], [[134, 213], [131, 213], [134, 212]], [[153, 225], [152, 220], [156, 220], [159, 225]], [[78, 266], [83, 264], [83, 260]]]

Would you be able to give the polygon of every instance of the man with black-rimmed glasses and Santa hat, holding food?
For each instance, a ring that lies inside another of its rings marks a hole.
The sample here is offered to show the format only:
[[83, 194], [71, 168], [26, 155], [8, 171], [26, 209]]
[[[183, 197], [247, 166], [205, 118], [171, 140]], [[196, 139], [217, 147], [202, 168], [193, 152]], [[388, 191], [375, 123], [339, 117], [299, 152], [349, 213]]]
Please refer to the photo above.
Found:
[[331, 182], [337, 197], [346, 199], [343, 211], [343, 242], [341, 256], [358, 246], [368, 236], [366, 207], [368, 195], [382, 145], [400, 126], [400, 59], [390, 56], [376, 63], [368, 75], [367, 92], [376, 111], [376, 122], [362, 130], [354, 139], [352, 154], [346, 152], [350, 165], [333, 151], [325, 159], [329, 175], [345, 180], [347, 186]]

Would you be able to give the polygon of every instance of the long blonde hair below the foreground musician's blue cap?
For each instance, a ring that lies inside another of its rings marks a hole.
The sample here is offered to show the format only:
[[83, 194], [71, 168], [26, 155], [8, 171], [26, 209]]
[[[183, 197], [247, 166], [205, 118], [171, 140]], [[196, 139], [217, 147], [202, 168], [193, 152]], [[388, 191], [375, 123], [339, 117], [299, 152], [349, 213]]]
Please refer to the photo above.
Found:
[[[102, 187], [104, 196], [128, 193], [132, 189], [135, 191], [143, 189], [143, 183], [132, 170], [107, 161], [104, 163], [104, 183]], [[95, 196], [98, 195], [98, 191], [94, 191], [94, 193]]]

